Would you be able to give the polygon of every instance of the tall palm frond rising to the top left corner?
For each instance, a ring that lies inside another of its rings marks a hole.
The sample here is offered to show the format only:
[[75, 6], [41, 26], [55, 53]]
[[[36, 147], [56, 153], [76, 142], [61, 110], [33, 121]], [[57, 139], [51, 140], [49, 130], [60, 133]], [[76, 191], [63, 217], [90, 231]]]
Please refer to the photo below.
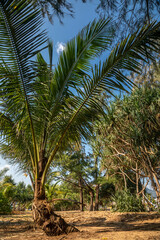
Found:
[[1, 110], [14, 116], [15, 122], [28, 119], [37, 161], [32, 112], [35, 72], [30, 60], [46, 41], [45, 32], [40, 32], [41, 13], [25, 0], [2, 0], [0, 21], [0, 92], [1, 101], [5, 103]]

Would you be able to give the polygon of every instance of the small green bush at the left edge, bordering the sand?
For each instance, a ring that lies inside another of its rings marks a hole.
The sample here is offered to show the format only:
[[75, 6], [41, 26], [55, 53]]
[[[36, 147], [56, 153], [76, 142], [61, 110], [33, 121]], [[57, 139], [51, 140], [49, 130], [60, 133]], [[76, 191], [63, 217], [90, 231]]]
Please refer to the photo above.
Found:
[[12, 211], [11, 203], [0, 190], [0, 214], [10, 214]]

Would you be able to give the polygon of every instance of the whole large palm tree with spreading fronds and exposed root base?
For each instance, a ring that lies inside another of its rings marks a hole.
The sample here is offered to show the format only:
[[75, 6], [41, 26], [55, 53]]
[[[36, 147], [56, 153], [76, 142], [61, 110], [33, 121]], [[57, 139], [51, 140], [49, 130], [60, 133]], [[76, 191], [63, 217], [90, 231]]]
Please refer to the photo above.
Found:
[[154, 59], [160, 23], [128, 36], [92, 67], [113, 40], [108, 20], [93, 21], [66, 44], [53, 69], [52, 44], [49, 64], [40, 53], [33, 61], [46, 41], [38, 8], [25, 0], [1, 0], [0, 20], [1, 153], [30, 174], [34, 220], [45, 232], [75, 231], [45, 200], [47, 173], [61, 150], [90, 136], [92, 122], [104, 114], [101, 92], [128, 89], [122, 70], [139, 73], [142, 61]]

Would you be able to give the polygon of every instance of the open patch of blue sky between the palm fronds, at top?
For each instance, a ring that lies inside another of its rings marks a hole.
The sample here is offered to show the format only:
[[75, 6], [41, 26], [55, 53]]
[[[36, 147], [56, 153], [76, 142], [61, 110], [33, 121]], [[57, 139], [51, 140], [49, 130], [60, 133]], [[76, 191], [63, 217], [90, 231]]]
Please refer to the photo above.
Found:
[[57, 45], [58, 43], [67, 43], [72, 39], [84, 26], [86, 26], [94, 18], [98, 18], [95, 9], [99, 1], [92, 0], [87, 3], [82, 1], [73, 1], [73, 8], [75, 11], [74, 18], [66, 15], [63, 19], [64, 24], [60, 24], [58, 18], [54, 18], [54, 24], [50, 24], [45, 19], [45, 28], [48, 30], [48, 36], [53, 40], [54, 57], [53, 63], [56, 64], [58, 60]]

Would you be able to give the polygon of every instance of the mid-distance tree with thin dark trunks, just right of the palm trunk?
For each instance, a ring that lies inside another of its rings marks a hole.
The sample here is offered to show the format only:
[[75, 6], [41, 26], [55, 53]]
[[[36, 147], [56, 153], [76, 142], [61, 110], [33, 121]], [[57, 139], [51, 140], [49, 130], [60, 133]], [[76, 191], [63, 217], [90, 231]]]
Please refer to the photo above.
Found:
[[[94, 190], [90, 184], [93, 164], [90, 156], [86, 155], [84, 147], [81, 144], [71, 146], [64, 154], [60, 154], [57, 164], [60, 173], [58, 178], [71, 184], [76, 192], [79, 191], [80, 210], [84, 210], [84, 191], [90, 196], [93, 195], [91, 200], [93, 204]], [[93, 209], [93, 206], [90, 208]]]

